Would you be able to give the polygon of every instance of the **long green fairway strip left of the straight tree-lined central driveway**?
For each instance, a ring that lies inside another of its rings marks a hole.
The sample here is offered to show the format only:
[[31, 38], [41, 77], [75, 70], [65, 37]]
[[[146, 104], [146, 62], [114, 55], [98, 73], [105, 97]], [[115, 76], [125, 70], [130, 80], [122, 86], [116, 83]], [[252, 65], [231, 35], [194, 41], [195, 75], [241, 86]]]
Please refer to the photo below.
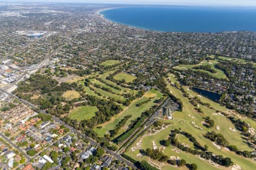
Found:
[[[148, 94], [154, 94], [154, 98], [150, 102], [141, 105], [141, 107], [136, 107], [136, 104], [142, 103], [143, 101], [146, 101], [148, 99], [148, 97], [146, 97]], [[119, 131], [119, 133], [116, 135], [118, 136], [119, 134], [121, 134], [123, 131], [127, 129], [131, 120], [135, 120], [137, 117], [141, 116], [141, 113], [151, 108], [155, 104], [154, 100], [159, 99], [160, 97], [162, 97], [162, 94], [159, 91], [150, 90], [146, 92], [146, 94], [141, 99], [134, 100], [133, 103], [131, 103], [129, 107], [125, 108], [123, 112], [113, 116], [110, 121], [100, 125], [102, 126], [101, 129], [95, 128], [94, 130], [98, 133], [98, 135], [103, 136], [106, 133], [106, 131], [114, 129], [114, 127], [118, 124], [118, 122], [123, 119], [123, 117], [127, 115], [131, 115], [131, 118], [126, 122], [125, 127], [123, 127]]]

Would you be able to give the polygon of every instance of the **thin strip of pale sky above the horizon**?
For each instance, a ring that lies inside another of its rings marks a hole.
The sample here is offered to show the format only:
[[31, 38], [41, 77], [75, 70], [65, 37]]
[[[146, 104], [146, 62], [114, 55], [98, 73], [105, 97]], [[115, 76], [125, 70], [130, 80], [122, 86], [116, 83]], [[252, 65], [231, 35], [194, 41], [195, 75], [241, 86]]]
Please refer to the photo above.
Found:
[[[6, 1], [6, 0], [0, 0]], [[141, 5], [256, 6], [256, 0], [9, 0], [7, 2], [83, 2]]]

